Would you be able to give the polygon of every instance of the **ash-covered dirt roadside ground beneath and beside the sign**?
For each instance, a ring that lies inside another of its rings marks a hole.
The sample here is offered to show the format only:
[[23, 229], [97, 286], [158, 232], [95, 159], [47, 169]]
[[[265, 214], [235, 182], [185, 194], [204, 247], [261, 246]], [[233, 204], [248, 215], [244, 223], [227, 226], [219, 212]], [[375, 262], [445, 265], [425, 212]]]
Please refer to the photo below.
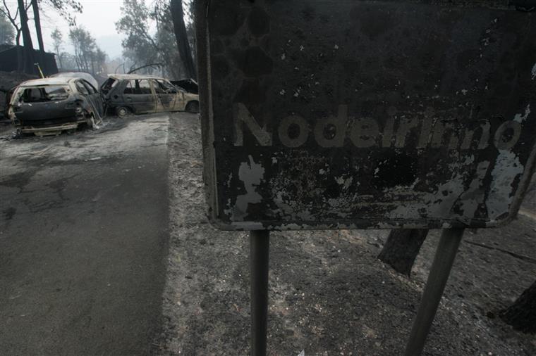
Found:
[[[164, 289], [163, 355], [246, 355], [248, 237], [205, 218], [200, 125], [169, 127], [171, 240]], [[425, 355], [535, 355], [536, 338], [496, 317], [536, 276], [535, 221], [467, 231]], [[271, 355], [400, 355], [439, 231], [406, 279], [376, 259], [389, 231], [274, 232], [269, 278]]]

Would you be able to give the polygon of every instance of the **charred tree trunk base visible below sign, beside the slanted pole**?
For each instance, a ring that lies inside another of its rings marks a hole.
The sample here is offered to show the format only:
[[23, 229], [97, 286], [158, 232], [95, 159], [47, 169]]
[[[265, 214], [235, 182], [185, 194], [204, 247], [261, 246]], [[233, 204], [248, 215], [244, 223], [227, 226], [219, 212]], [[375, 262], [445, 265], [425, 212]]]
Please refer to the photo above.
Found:
[[413, 262], [428, 234], [427, 229], [391, 230], [379, 260], [393, 267], [396, 272], [410, 276]]

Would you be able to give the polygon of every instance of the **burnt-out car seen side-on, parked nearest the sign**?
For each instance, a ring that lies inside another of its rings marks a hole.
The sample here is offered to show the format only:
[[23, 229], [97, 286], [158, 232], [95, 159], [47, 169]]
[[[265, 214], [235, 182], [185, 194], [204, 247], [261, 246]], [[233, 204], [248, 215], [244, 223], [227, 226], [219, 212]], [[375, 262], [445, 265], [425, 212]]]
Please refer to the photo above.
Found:
[[169, 111], [199, 112], [199, 96], [175, 87], [169, 80], [153, 75], [109, 75], [100, 88], [106, 105], [124, 117], [130, 113]]

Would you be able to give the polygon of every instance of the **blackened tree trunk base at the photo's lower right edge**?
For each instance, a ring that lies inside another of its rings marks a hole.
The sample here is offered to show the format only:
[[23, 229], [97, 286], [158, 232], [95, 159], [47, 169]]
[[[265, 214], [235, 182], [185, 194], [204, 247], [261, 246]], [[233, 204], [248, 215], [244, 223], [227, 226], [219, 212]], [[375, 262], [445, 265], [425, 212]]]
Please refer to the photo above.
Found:
[[536, 281], [500, 316], [513, 329], [523, 333], [536, 333]]

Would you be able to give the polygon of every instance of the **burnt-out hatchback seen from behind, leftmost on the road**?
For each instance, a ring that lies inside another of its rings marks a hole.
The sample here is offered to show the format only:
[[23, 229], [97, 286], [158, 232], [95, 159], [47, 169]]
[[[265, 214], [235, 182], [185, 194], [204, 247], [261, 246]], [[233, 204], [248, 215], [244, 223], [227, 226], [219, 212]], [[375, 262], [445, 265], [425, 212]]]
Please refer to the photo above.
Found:
[[16, 87], [8, 104], [8, 117], [24, 133], [97, 127], [102, 115], [102, 96], [80, 77], [28, 80]]

